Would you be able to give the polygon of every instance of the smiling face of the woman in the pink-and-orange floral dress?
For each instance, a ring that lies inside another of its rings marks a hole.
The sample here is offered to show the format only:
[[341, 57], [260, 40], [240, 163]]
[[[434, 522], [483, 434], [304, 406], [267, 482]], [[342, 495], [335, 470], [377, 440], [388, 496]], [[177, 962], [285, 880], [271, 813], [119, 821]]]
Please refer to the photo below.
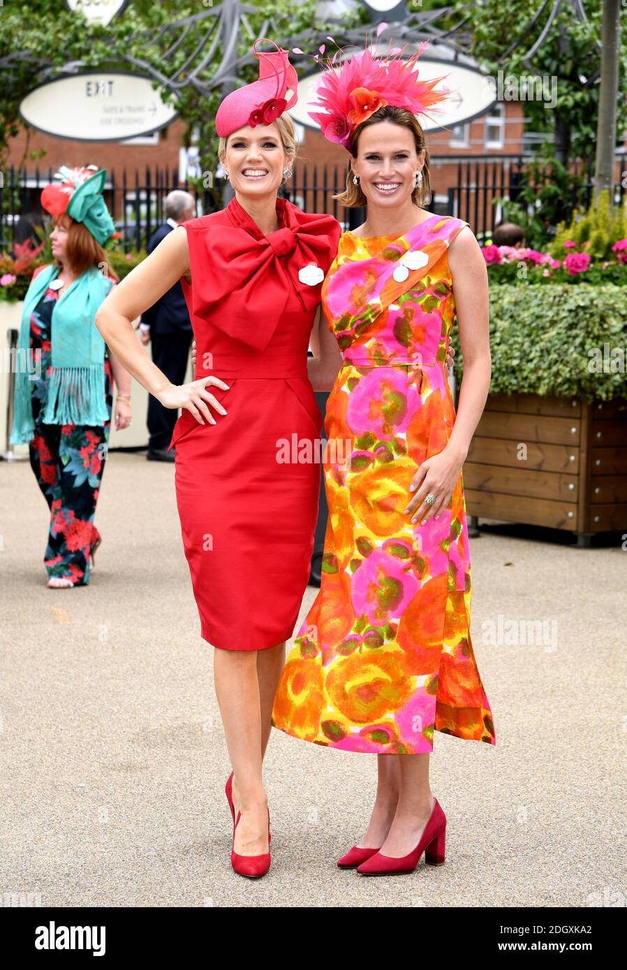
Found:
[[424, 156], [424, 148], [416, 152], [413, 133], [405, 125], [380, 121], [365, 127], [351, 165], [368, 205], [393, 207], [407, 203]]

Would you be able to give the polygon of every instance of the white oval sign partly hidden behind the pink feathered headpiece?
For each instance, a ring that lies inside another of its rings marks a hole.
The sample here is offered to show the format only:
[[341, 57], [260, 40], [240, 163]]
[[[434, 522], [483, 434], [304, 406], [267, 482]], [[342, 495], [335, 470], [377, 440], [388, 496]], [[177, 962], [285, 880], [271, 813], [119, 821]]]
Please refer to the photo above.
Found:
[[[440, 52], [443, 49], [438, 50]], [[437, 106], [440, 111], [436, 112], [434, 109], [431, 118], [425, 114], [418, 116], [423, 131], [442, 131], [452, 128], [453, 125], [472, 121], [480, 114], [486, 113], [496, 103], [494, 84], [472, 62], [462, 63], [458, 60], [447, 60], [446, 57], [440, 59], [435, 55], [431, 57], [423, 55], [418, 61], [417, 73], [420, 81], [431, 81], [433, 78], [446, 76], [440, 86], [450, 90], [446, 101]], [[314, 74], [299, 79], [298, 101], [293, 108], [289, 109], [289, 114], [294, 121], [315, 130], [318, 130], [318, 126], [308, 112], [323, 113], [323, 109], [314, 107], [314, 102], [317, 100], [315, 89], [321, 74], [321, 70], [315, 71]], [[436, 90], [438, 89], [436, 87]]]

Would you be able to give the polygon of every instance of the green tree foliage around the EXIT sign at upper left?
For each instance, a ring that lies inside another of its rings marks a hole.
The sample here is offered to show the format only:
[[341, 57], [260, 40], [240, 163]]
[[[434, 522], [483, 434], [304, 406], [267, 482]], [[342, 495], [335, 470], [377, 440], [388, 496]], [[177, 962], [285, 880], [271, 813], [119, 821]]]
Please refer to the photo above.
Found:
[[[307, 31], [311, 44], [304, 47], [307, 52], [317, 51], [325, 43], [325, 35], [340, 31], [346, 26], [359, 23], [359, 12], [344, 16], [341, 20], [322, 22], [316, 17], [315, 0], [293, 3], [289, 0], [247, 0], [248, 5], [256, 8], [256, 13], [248, 15], [248, 23], [253, 31], [259, 31], [264, 20], [269, 19], [268, 28], [278, 44], [285, 46], [285, 40]], [[108, 68], [139, 70], [132, 64], [122, 61], [127, 55], [146, 60], [155, 70], [164, 67], [163, 54], [172, 44], [172, 35], [149, 43], [155, 28], [183, 19], [198, 16], [206, 6], [198, 2], [178, 2], [178, 0], [131, 0], [121, 15], [115, 16], [107, 27], [87, 23], [82, 14], [69, 11], [63, 3], [50, 3], [50, 0], [29, 0], [28, 4], [12, 0], [0, 9], [0, 167], [4, 167], [9, 150], [9, 142], [15, 138], [20, 126], [17, 109], [22, 98], [43, 80], [58, 77], [61, 69], [72, 62], [80, 62], [82, 69]], [[315, 28], [313, 27], [315, 24]], [[167, 74], [184, 78], [183, 65], [189, 54], [196, 48], [198, 38], [193, 31], [182, 38], [172, 59], [168, 61]], [[238, 56], [250, 49], [247, 38], [240, 37]], [[214, 62], [201, 75], [202, 81], [211, 80], [219, 64], [221, 51], [218, 49]], [[314, 61], [307, 60], [297, 71], [311, 71]], [[181, 74], [176, 75], [181, 68]], [[242, 83], [254, 81], [258, 77], [256, 62], [239, 72]], [[155, 89], [158, 89], [155, 83]], [[161, 89], [165, 101], [174, 102], [174, 96]], [[194, 132], [198, 132], [201, 168], [211, 172], [215, 168], [215, 112], [221, 98], [220, 91], [209, 97], [201, 95], [193, 85], [185, 85], [176, 99], [181, 118], [187, 125], [185, 144], [191, 144]], [[61, 109], [60, 109], [61, 110]], [[71, 110], [71, 105], [63, 110]], [[36, 155], [26, 150], [22, 162], [34, 160]]]

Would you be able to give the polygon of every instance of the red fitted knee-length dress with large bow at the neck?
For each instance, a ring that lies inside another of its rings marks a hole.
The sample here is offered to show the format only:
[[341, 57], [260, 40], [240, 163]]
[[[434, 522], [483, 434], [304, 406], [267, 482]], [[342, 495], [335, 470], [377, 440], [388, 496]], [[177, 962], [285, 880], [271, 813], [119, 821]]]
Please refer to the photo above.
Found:
[[200, 425], [183, 410], [170, 447], [201, 636], [222, 650], [266, 650], [289, 639], [314, 548], [320, 466], [307, 448], [319, 453], [322, 419], [307, 351], [321, 274], [341, 230], [331, 216], [285, 199], [277, 212], [282, 228], [268, 236], [235, 199], [182, 223], [195, 377], [229, 385], [208, 388], [228, 413]]

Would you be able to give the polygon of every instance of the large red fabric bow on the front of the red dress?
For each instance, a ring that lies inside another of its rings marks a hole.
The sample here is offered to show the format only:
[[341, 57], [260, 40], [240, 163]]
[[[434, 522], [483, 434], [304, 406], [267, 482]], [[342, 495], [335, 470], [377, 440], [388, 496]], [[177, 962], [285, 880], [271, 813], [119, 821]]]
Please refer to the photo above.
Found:
[[342, 231], [333, 216], [311, 215], [286, 199], [277, 200], [277, 212], [282, 228], [264, 236], [233, 199], [216, 213], [227, 219], [193, 220], [187, 233], [194, 314], [256, 350], [270, 342], [292, 292], [304, 311], [319, 303], [321, 283], [303, 284], [298, 271], [315, 263], [326, 274]]

